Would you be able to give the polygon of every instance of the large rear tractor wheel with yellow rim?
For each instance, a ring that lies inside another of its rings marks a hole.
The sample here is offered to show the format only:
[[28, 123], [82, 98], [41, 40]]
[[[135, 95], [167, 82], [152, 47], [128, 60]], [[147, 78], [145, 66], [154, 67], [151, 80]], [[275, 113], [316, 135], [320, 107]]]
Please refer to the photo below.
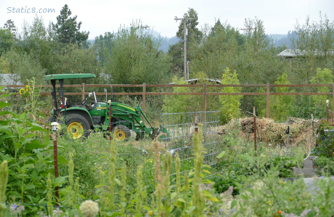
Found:
[[66, 115], [66, 126], [68, 135], [73, 139], [88, 138], [91, 134], [88, 120], [80, 114]]

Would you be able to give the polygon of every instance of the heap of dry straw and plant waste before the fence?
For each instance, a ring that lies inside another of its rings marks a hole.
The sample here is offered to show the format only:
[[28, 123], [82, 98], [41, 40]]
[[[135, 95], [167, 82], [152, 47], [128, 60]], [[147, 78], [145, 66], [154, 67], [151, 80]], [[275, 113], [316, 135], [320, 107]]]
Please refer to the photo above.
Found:
[[[254, 140], [254, 118], [246, 117], [239, 119], [232, 119], [227, 124], [220, 126], [219, 134], [230, 134], [238, 131], [238, 135], [247, 141]], [[314, 122], [314, 128], [316, 129], [318, 122]], [[257, 138], [259, 141], [263, 141], [267, 144], [286, 144], [287, 135], [285, 131], [288, 126], [290, 127], [289, 134], [289, 144], [297, 145], [297, 144], [307, 144], [312, 142], [314, 139], [312, 133], [312, 121], [305, 120], [296, 117], [289, 117], [284, 123], [276, 123], [271, 118], [257, 118]]]

